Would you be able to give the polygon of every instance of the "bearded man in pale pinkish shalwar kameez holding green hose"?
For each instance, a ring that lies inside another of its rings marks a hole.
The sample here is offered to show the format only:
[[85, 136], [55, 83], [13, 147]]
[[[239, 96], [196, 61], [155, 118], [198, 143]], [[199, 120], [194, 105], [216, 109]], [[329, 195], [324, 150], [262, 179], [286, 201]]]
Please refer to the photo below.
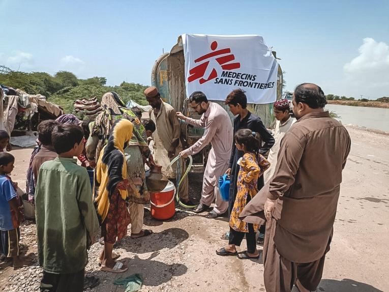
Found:
[[188, 118], [181, 112], [177, 112], [177, 117], [194, 127], [205, 128], [205, 131], [196, 143], [182, 151], [180, 155], [187, 157], [196, 154], [211, 142], [212, 149], [205, 166], [201, 200], [194, 212], [200, 213], [208, 209], [215, 200], [214, 209], [206, 217], [216, 218], [225, 213], [228, 208], [228, 202], [221, 199], [218, 181], [228, 168], [232, 144], [232, 124], [224, 108], [215, 102], [208, 102], [201, 91], [191, 94], [189, 104], [197, 113], [202, 114], [201, 119]]

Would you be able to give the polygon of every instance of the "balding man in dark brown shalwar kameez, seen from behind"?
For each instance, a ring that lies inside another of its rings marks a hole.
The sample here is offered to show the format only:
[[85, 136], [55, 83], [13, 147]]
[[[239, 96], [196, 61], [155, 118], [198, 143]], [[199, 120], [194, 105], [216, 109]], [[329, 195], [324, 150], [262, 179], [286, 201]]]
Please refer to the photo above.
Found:
[[273, 178], [241, 214], [244, 221], [258, 223], [264, 209], [268, 221], [263, 247], [266, 291], [314, 291], [321, 280], [351, 143], [342, 124], [323, 110], [325, 104], [319, 86], [296, 87], [297, 122], [281, 141]]

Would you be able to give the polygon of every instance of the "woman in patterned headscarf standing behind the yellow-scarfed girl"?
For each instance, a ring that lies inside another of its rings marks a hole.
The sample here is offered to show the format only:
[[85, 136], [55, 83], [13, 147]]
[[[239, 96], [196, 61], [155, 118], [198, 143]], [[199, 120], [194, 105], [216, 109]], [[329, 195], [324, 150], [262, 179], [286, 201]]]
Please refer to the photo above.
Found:
[[[149, 203], [149, 193], [145, 184], [144, 163], [155, 165], [148, 148], [146, 131], [140, 120], [131, 109], [126, 108], [122, 99], [114, 92], [103, 95], [102, 112], [97, 116], [91, 136], [86, 143], [86, 154], [89, 161], [101, 156], [101, 149], [113, 123], [118, 119], [132, 122], [132, 137], [125, 149], [128, 180], [128, 201], [131, 217], [131, 238], [150, 235], [152, 230], [143, 230], [143, 205]], [[148, 159], [148, 161], [147, 161]]]

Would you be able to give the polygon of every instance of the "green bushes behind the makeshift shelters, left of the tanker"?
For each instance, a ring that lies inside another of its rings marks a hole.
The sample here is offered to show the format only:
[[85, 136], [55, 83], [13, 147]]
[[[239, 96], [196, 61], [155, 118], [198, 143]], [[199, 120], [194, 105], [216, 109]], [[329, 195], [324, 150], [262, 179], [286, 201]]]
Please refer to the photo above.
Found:
[[72, 112], [73, 101], [76, 99], [97, 97], [101, 100], [104, 93], [114, 91], [127, 102], [129, 99], [146, 105], [143, 91], [147, 86], [123, 81], [120, 85], [107, 86], [107, 78], [92, 77], [79, 79], [68, 71], [58, 71], [53, 76], [45, 72], [25, 73], [12, 71], [0, 66], [0, 84], [21, 89], [28, 94], [41, 94], [47, 100]]

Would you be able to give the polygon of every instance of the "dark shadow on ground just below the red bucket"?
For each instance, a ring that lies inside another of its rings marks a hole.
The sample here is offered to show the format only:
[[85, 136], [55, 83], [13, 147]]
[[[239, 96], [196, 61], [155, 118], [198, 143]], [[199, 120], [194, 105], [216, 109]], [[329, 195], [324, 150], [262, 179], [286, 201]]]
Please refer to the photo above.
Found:
[[148, 253], [164, 248], [173, 248], [189, 238], [189, 233], [181, 228], [168, 228], [147, 237], [131, 239], [125, 237], [115, 244], [115, 248], [124, 248], [132, 253]]

